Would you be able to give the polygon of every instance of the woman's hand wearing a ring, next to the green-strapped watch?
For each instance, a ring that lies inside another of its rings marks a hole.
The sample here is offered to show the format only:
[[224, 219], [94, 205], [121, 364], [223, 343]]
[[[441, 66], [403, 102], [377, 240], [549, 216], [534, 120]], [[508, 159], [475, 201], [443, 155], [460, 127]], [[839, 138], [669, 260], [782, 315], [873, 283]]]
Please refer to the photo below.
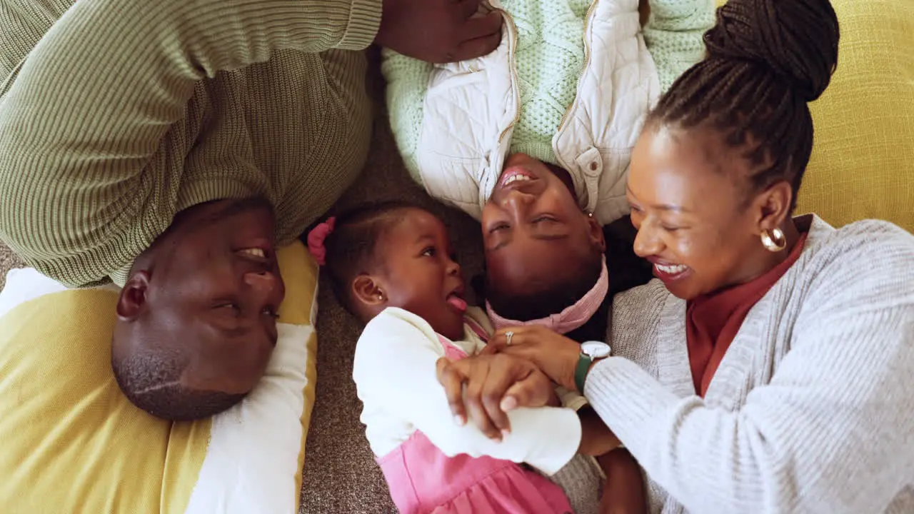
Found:
[[[508, 344], [509, 332], [512, 333], [511, 344]], [[568, 337], [538, 325], [502, 328], [489, 339], [481, 355], [494, 353], [527, 359], [558, 385], [577, 391], [574, 372], [578, 367], [580, 345]]]

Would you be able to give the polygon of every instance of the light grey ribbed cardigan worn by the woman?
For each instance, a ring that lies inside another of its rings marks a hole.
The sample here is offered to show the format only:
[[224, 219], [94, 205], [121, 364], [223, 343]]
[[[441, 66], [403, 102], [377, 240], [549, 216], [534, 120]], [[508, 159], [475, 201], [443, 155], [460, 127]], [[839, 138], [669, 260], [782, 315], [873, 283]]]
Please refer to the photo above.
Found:
[[914, 237], [798, 219], [800, 259], [746, 316], [705, 399], [685, 301], [618, 295], [590, 404], [651, 478], [654, 512], [914, 511]]

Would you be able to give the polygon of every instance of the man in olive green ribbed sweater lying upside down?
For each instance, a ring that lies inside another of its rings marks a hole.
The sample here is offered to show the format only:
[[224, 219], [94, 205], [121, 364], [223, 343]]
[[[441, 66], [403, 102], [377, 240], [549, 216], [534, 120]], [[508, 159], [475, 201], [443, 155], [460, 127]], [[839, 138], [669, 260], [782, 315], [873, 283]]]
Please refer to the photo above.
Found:
[[0, 238], [63, 284], [123, 286], [115, 375], [175, 420], [227, 409], [263, 374], [284, 294], [274, 249], [367, 154], [357, 50], [471, 59], [500, 31], [498, 16], [470, 19], [478, 0], [14, 4], [0, 16]]

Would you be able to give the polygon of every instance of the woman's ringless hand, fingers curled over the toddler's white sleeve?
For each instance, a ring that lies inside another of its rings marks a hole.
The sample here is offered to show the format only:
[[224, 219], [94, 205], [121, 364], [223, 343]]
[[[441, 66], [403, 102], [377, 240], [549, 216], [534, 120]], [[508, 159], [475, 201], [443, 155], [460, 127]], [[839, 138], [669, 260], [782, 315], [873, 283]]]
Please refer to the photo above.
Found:
[[454, 420], [463, 424], [469, 417], [497, 440], [511, 430], [505, 412], [519, 406], [542, 407], [555, 396], [552, 382], [532, 362], [505, 354], [438, 359], [438, 381]]

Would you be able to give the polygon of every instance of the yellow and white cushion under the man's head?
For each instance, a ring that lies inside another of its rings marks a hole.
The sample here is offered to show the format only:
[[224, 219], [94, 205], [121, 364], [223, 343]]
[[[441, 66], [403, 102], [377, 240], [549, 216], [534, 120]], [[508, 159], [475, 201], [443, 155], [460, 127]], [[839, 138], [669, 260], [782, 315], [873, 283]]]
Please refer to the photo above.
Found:
[[117, 292], [34, 270], [0, 294], [0, 505], [6, 512], [295, 512], [314, 405], [317, 267], [280, 252], [286, 300], [264, 380], [228, 412], [168, 423], [111, 370]]

